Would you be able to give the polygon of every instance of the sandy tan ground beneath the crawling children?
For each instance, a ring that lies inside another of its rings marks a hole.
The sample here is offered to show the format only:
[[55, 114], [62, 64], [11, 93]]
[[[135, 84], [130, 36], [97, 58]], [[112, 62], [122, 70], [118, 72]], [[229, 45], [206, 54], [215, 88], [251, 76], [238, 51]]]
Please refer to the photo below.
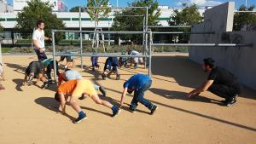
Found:
[[[222, 107], [222, 100], [209, 92], [192, 100], [185, 95], [201, 85], [207, 77], [201, 66], [188, 60], [187, 55], [160, 55], [153, 57], [153, 85], [145, 97], [159, 106], [155, 114], [139, 105], [137, 113], [127, 111], [131, 96], [125, 99], [125, 107], [116, 117], [108, 107], [96, 105], [90, 98], [80, 102], [88, 119], [73, 124], [77, 114], [67, 107], [68, 116], [56, 108], [55, 86], [40, 89], [36, 85], [22, 87], [24, 70], [36, 60], [33, 55], [5, 55], [3, 63], [6, 81], [0, 91], [0, 143], [225, 143], [245, 144], [256, 141], [256, 92], [244, 88], [238, 104]], [[103, 61], [101, 59], [101, 61]], [[84, 59], [90, 66], [90, 59]], [[101, 67], [103, 64], [101, 63]], [[101, 68], [101, 70], [102, 70]], [[98, 72], [88, 67], [80, 69], [84, 78], [104, 86], [108, 101], [119, 101], [122, 85], [135, 73], [146, 73], [138, 68], [124, 68], [119, 81], [103, 81]], [[114, 76], [113, 76], [114, 78]]]

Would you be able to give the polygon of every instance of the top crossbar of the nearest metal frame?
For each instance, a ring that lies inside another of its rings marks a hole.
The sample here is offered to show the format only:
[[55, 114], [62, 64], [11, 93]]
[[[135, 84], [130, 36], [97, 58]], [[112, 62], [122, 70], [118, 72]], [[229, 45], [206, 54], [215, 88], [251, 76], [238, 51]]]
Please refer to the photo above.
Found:
[[110, 33], [110, 34], [143, 34], [149, 32], [140, 31], [76, 31], [76, 30], [52, 30], [53, 32], [84, 32], [84, 33]]

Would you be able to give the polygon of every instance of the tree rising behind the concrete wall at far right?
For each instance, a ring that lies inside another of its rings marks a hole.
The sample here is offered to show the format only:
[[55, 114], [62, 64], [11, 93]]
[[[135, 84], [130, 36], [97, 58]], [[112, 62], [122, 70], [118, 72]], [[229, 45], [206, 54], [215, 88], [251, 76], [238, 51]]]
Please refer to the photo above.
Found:
[[[251, 6], [247, 8], [244, 5], [241, 5], [241, 7], [238, 9], [239, 11], [253, 11], [254, 6]], [[233, 23], [233, 29], [235, 31], [240, 31], [242, 26], [245, 26], [247, 24], [256, 24], [256, 14], [255, 13], [236, 13], [234, 15], [234, 23]]]

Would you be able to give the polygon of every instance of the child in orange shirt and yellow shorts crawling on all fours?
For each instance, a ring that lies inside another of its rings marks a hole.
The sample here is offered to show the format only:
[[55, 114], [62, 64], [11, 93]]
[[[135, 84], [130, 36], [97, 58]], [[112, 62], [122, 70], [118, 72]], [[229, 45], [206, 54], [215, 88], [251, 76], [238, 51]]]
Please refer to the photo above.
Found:
[[86, 114], [82, 111], [81, 107], [79, 107], [78, 98], [82, 95], [88, 95], [90, 98], [96, 102], [96, 104], [100, 104], [112, 109], [112, 117], [116, 116], [119, 113], [119, 108], [112, 105], [108, 101], [104, 101], [100, 99], [100, 97], [96, 93], [96, 89], [94, 88], [94, 84], [87, 79], [74, 79], [67, 81], [64, 84], [59, 86], [57, 93], [55, 94], [55, 100], [61, 102], [61, 110], [64, 114], [66, 112], [66, 102], [67, 97], [70, 96], [70, 105], [73, 109], [78, 112], [79, 118], [74, 120], [73, 123], [80, 123], [83, 119], [87, 118]]

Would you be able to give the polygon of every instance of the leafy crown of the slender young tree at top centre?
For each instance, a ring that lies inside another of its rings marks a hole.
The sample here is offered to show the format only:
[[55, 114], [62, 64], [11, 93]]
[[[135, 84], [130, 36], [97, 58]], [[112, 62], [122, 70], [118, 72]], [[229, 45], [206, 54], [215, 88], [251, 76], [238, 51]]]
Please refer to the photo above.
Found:
[[[87, 7], [108, 7], [108, 0], [87, 0]], [[108, 16], [111, 12], [111, 9], [96, 9], [89, 8], [85, 9], [86, 12], [90, 15], [92, 20], [96, 20], [96, 25], [98, 26], [99, 19], [102, 17]]]

